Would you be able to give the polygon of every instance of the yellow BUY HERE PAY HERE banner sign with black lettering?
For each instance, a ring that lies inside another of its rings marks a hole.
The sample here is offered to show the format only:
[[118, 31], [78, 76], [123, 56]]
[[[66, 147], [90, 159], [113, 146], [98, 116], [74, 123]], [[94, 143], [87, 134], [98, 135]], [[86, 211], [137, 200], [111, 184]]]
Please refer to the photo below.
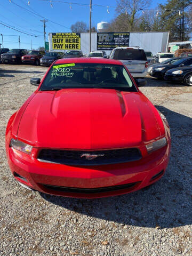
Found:
[[81, 50], [81, 33], [52, 33], [53, 50]]

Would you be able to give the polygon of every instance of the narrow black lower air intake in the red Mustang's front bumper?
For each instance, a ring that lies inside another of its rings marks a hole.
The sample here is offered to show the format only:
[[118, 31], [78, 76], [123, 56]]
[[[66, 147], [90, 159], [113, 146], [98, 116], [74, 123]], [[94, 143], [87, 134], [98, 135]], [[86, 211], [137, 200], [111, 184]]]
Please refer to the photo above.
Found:
[[73, 187], [62, 187], [62, 186], [54, 186], [54, 185], [46, 185], [41, 184], [42, 187], [54, 191], [60, 192], [69, 192], [69, 193], [84, 193], [84, 194], [94, 194], [94, 193], [105, 193], [109, 191], [116, 191], [121, 189], [133, 189], [134, 187], [138, 187], [141, 182], [128, 183], [123, 185], [116, 185], [111, 187], [101, 187], [101, 188], [73, 188]]

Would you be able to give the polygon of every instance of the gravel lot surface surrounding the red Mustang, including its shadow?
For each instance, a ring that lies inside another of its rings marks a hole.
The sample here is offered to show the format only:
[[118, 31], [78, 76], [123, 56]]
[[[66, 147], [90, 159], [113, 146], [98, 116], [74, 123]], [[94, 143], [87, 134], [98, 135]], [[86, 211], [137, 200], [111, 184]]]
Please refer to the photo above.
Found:
[[101, 199], [29, 191], [5, 155], [9, 117], [46, 67], [0, 65], [0, 255], [192, 255], [192, 87], [147, 78], [141, 91], [167, 117], [172, 149], [164, 177], [147, 189]]

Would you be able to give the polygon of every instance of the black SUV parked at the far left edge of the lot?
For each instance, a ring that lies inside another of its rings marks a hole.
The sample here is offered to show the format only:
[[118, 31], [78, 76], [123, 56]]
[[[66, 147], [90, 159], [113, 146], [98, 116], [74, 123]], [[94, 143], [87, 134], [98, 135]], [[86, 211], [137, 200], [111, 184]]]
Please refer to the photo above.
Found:
[[21, 63], [21, 57], [27, 54], [26, 49], [11, 49], [1, 55], [2, 63]]

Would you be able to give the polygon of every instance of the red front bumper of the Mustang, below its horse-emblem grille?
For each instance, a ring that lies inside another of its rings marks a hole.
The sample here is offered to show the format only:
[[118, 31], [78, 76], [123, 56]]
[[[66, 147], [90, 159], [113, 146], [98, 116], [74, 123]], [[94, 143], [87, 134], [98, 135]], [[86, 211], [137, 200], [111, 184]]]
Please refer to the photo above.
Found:
[[[169, 162], [168, 145], [142, 157], [139, 161], [94, 166], [71, 166], [39, 162], [31, 156], [6, 145], [6, 153], [14, 178], [42, 193], [98, 198], [121, 195], [151, 185], [162, 177]], [[24, 178], [24, 179], [23, 179]]]

